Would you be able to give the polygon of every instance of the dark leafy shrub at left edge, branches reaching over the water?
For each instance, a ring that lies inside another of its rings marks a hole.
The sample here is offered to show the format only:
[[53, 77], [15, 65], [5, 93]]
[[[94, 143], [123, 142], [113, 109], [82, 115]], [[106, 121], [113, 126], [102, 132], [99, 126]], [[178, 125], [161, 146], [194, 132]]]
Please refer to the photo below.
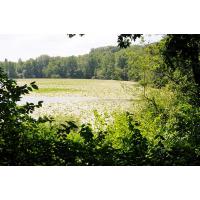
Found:
[[37, 88], [35, 82], [30, 86], [18, 86], [0, 69], [0, 165], [16, 165], [18, 159], [22, 160], [22, 157], [19, 158], [20, 139], [29, 125], [37, 123], [29, 114], [36, 107], [41, 107], [42, 102], [38, 102], [38, 105], [26, 103], [23, 106], [17, 102], [22, 95]]

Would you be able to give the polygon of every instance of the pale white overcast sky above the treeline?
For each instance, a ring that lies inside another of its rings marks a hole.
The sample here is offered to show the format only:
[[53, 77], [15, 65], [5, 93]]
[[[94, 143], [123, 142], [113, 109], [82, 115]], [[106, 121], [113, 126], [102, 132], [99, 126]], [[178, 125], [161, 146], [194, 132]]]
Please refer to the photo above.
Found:
[[[71, 56], [89, 53], [92, 48], [116, 46], [118, 34], [85, 34], [68, 38], [66, 34], [0, 34], [0, 60], [23, 61], [40, 55]], [[158, 41], [161, 35], [146, 35], [148, 42]], [[136, 43], [138, 43], [137, 41]]]

